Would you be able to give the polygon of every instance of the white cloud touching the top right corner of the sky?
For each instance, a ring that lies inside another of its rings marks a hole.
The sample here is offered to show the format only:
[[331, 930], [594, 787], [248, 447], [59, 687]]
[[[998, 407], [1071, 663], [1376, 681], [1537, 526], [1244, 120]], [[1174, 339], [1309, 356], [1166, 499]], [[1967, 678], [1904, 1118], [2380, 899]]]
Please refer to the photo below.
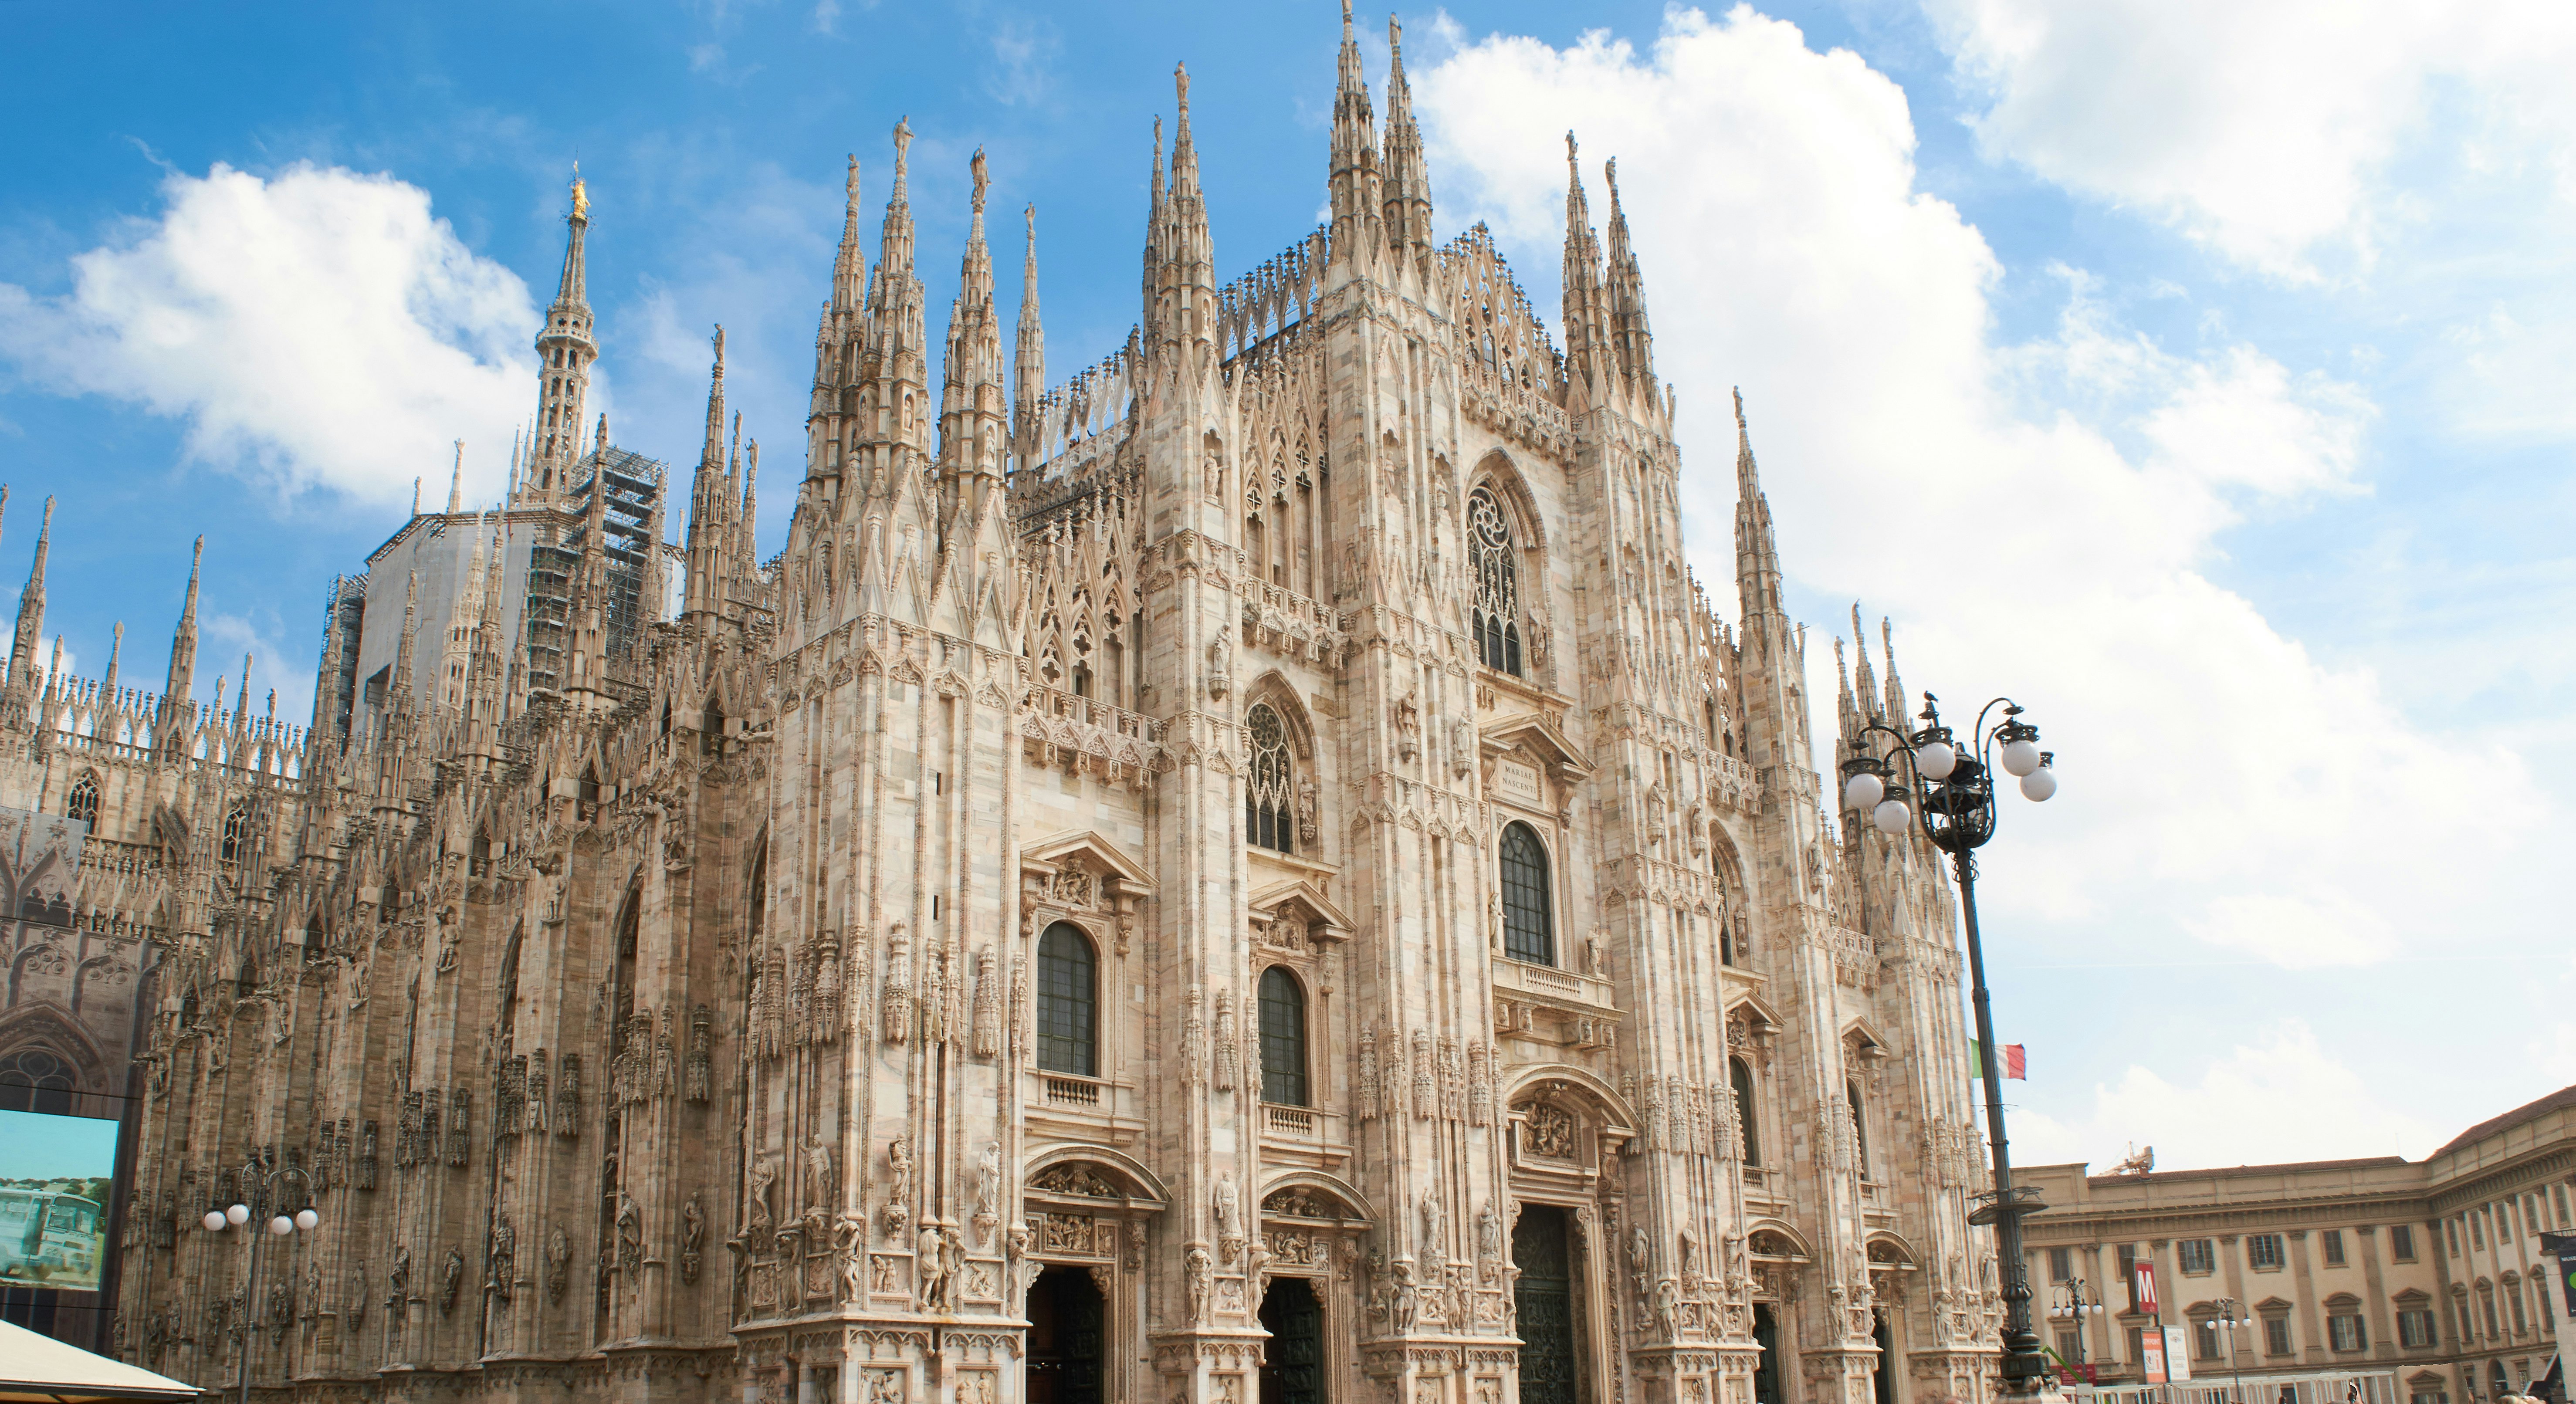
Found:
[[[2576, 155], [2576, 10], [2558, 0], [1924, 0], [1986, 98], [1989, 155], [2308, 273], [2416, 219], [2388, 173]], [[2519, 178], [2519, 175], [2517, 175]]]

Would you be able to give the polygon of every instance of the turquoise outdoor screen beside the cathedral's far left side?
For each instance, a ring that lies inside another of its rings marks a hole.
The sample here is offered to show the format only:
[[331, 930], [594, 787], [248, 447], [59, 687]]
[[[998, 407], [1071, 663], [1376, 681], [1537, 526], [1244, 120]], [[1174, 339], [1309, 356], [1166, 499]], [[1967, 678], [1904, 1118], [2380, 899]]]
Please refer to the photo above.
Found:
[[0, 1283], [98, 1291], [116, 1121], [0, 1110]]

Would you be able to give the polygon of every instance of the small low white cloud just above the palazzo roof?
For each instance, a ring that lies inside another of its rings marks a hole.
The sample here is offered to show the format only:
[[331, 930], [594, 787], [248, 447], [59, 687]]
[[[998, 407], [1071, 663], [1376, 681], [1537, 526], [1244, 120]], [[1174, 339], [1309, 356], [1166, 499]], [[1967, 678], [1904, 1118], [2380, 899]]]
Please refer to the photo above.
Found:
[[2468, 1123], [2429, 1123], [2385, 1105], [2380, 1090], [2336, 1061], [2303, 1020], [2282, 1020], [2251, 1043], [2210, 1061], [2197, 1085], [2128, 1067], [2097, 1085], [2092, 1105], [2069, 1118], [2032, 1108], [2012, 1113], [2020, 1164], [2117, 1164], [2128, 1146], [2154, 1146], [2156, 1170], [2282, 1164], [2403, 1154], [2421, 1159]]

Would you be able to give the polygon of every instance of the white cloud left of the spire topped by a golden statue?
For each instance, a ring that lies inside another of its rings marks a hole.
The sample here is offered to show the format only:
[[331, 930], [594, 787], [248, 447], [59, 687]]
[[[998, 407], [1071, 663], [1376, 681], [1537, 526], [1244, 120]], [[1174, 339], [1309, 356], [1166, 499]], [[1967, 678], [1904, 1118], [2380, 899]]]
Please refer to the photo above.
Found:
[[[0, 363], [54, 394], [185, 420], [188, 456], [278, 492], [500, 497], [531, 404], [526, 283], [469, 250], [430, 196], [294, 165], [173, 173], [165, 211], [72, 260], [72, 289], [0, 283]], [[598, 392], [595, 392], [598, 394]]]

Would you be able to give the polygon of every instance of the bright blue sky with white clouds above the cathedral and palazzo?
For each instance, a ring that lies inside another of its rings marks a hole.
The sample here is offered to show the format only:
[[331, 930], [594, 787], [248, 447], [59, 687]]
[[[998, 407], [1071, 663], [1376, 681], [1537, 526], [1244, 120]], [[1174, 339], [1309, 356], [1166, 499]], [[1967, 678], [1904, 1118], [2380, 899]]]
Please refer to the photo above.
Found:
[[[500, 492], [592, 196], [613, 438], [685, 464], [706, 332], [783, 538], [845, 152], [909, 116], [945, 312], [966, 160], [1038, 206], [1048, 363], [1136, 319], [1170, 72], [1224, 276], [1324, 201], [1332, 5], [394, 5], [15, 13], [0, 93], [0, 580], [59, 495], [49, 631], [304, 716], [319, 603], [412, 479]], [[2576, 21], [2401, 0], [1399, 10], [1435, 224], [1556, 304], [1602, 157], [1731, 577], [1741, 384], [1793, 605], [1945, 698], [2012, 690], [2066, 793], [1986, 853], [2022, 1159], [2421, 1154], [2576, 1082], [2545, 781], [2571, 716]], [[1363, 10], [1370, 77], [1386, 13]], [[1383, 98], [1381, 98], [1383, 113]], [[1018, 255], [997, 219], [997, 260]], [[1015, 296], [1015, 286], [1005, 289]], [[229, 698], [227, 698], [229, 701]], [[2434, 1056], [2439, 1051], [2439, 1056]]]

